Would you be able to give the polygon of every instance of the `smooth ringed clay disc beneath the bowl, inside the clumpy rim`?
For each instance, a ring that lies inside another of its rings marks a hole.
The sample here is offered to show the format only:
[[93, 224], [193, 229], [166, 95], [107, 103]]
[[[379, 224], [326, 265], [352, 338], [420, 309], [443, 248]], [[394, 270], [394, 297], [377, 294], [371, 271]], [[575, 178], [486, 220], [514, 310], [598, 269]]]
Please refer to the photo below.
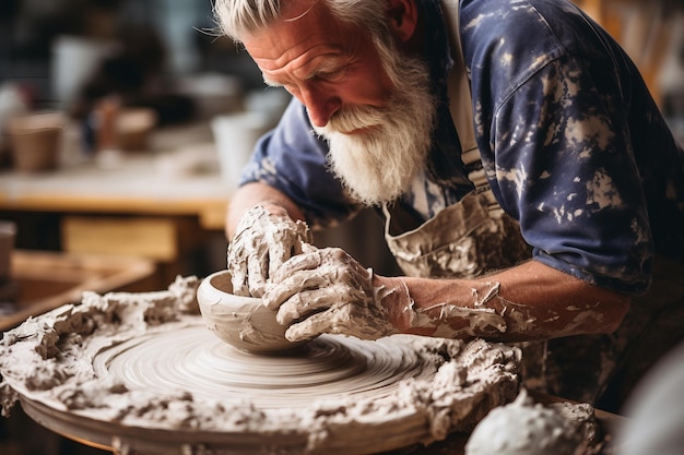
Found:
[[[437, 360], [437, 359], [434, 359]], [[258, 408], [304, 408], [311, 400], [378, 399], [404, 379], [432, 379], [437, 363], [398, 339], [365, 343], [323, 336], [294, 352], [253, 355], [202, 325], [131, 339], [95, 356], [95, 374], [131, 390], [184, 390], [207, 399], [248, 399]]]

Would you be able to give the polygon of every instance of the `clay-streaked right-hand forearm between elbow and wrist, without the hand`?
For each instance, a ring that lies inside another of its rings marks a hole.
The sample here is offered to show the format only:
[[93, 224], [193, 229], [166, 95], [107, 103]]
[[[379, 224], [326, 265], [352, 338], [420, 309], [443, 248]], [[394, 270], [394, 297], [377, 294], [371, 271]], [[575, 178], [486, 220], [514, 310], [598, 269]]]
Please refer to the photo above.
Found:
[[[387, 302], [400, 332], [456, 338], [518, 342], [610, 333], [629, 304], [627, 296], [535, 261], [472, 280], [380, 277], [376, 284], [409, 294]], [[393, 303], [401, 301], [412, 308]]]

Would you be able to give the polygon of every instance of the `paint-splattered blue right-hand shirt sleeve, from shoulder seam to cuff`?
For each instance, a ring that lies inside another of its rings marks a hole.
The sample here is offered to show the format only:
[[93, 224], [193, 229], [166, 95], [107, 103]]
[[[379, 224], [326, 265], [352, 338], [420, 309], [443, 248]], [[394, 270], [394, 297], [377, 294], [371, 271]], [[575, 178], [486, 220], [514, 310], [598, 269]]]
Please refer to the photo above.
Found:
[[520, 85], [493, 119], [487, 168], [538, 261], [640, 294], [652, 239], [626, 106], [602, 70], [564, 56]]

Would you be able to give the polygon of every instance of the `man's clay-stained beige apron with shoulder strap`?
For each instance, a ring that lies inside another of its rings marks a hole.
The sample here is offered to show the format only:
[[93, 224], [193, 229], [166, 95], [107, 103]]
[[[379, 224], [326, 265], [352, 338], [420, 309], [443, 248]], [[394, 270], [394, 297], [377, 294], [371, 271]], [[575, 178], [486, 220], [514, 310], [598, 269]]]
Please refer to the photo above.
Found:
[[[458, 0], [443, 0], [449, 19], [453, 69], [449, 74], [450, 112], [463, 163], [480, 163], [473, 129], [470, 84], [458, 33]], [[484, 171], [468, 176], [475, 185], [459, 203], [420, 224], [400, 206], [382, 207], [385, 237], [408, 276], [471, 278], [530, 258], [518, 223], [492, 194]], [[530, 388], [618, 411], [635, 383], [657, 358], [682, 339], [684, 266], [657, 258], [653, 285], [634, 298], [614, 334], [524, 343], [522, 376]]]

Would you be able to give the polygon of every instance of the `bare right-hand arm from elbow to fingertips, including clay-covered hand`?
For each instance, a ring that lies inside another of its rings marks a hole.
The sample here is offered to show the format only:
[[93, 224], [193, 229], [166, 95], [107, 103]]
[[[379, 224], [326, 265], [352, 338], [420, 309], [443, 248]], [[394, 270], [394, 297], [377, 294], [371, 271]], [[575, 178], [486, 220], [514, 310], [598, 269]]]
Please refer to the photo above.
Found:
[[264, 304], [292, 342], [322, 333], [376, 339], [396, 333], [522, 342], [608, 333], [625, 315], [626, 295], [541, 262], [477, 279], [384, 277], [341, 249], [303, 252], [272, 276]]

